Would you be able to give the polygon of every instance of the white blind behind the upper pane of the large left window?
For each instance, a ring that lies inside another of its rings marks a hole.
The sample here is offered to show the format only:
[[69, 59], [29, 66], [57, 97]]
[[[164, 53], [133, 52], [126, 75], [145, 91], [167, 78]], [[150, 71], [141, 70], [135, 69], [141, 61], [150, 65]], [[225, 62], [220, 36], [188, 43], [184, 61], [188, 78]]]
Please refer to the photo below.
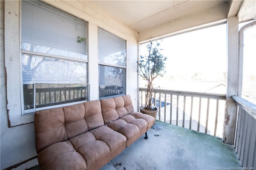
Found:
[[87, 60], [87, 23], [51, 8], [22, 1], [22, 49]]

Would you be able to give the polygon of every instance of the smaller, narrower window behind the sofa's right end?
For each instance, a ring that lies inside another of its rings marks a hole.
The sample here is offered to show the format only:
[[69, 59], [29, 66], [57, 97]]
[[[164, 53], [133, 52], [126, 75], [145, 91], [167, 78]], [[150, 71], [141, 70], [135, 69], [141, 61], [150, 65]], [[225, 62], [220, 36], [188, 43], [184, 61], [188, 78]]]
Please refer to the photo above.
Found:
[[126, 41], [98, 28], [99, 97], [126, 93]]

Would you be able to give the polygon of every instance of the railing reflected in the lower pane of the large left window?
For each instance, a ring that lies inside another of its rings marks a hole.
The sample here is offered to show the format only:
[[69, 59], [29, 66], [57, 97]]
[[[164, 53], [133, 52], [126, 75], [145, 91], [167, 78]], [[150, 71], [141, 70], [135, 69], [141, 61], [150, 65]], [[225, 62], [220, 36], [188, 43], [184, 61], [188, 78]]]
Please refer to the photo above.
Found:
[[89, 100], [88, 84], [24, 84], [25, 110]]

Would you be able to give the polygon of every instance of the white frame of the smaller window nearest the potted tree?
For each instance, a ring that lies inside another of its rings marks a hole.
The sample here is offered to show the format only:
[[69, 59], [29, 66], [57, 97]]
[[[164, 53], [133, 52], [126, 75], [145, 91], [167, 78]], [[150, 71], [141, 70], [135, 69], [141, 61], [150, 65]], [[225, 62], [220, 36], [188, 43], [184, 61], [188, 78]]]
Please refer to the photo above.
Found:
[[[99, 30], [104, 30], [103, 28], [100, 28], [98, 27], [98, 32]], [[107, 30], [104, 30], [105, 32], [108, 32], [114, 36], [116, 36], [115, 34], [107, 31]], [[118, 36], [116, 36], [118, 37]], [[121, 40], [124, 40], [120, 37], [118, 37], [119, 39]], [[99, 41], [99, 40], [98, 40]], [[126, 90], [127, 90], [127, 40], [124, 40], [125, 41], [125, 50], [126, 50], [126, 56], [125, 56], [125, 66], [123, 65], [115, 65], [115, 64], [111, 64], [111, 63], [104, 63], [104, 62], [100, 62], [100, 59], [98, 59], [98, 69], [100, 68], [100, 65], [101, 66], [107, 66], [107, 67], [118, 67], [118, 68], [122, 68], [122, 69], [125, 69], [125, 80], [124, 81], [124, 85], [125, 85], [125, 88], [124, 88], [124, 94], [120, 94], [120, 95], [112, 95], [112, 96], [106, 96], [106, 97], [100, 97], [100, 76], [98, 77], [98, 82], [99, 82], [99, 86], [98, 86], [98, 89], [99, 89], [99, 99], [107, 99], [107, 98], [111, 98], [111, 97], [118, 97], [118, 96], [123, 96], [123, 95], [126, 95]], [[99, 50], [99, 49], [98, 49]]]

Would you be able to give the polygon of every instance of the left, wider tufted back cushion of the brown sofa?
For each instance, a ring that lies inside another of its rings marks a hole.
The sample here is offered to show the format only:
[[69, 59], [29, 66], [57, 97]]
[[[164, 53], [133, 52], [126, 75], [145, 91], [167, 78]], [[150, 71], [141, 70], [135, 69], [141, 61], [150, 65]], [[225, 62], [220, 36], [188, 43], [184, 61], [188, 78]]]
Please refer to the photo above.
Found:
[[37, 111], [34, 118], [36, 151], [102, 125], [99, 100]]

